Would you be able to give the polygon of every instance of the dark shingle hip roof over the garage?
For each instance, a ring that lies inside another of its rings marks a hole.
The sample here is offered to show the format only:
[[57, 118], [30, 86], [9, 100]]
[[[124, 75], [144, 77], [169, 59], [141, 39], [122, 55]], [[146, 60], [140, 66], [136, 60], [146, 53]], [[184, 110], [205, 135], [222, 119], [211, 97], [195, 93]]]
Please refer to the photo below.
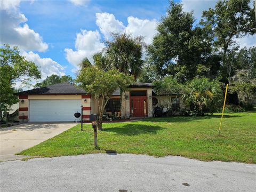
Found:
[[65, 82], [15, 93], [15, 95], [22, 94], [85, 94], [85, 91], [78, 89], [76, 85]]

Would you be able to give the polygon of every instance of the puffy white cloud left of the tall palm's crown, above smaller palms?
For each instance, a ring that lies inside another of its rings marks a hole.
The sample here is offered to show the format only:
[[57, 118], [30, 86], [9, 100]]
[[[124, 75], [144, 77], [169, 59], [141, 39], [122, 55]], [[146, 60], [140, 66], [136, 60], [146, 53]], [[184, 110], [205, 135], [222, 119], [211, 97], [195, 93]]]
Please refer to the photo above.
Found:
[[74, 51], [73, 49], [65, 49], [66, 59], [69, 63], [75, 66], [78, 69], [79, 63], [87, 57], [89, 60], [92, 60], [91, 56], [94, 53], [102, 51], [105, 47], [101, 43], [101, 36], [98, 30], [95, 31], [86, 31], [81, 30], [81, 33], [76, 35], [76, 43]]

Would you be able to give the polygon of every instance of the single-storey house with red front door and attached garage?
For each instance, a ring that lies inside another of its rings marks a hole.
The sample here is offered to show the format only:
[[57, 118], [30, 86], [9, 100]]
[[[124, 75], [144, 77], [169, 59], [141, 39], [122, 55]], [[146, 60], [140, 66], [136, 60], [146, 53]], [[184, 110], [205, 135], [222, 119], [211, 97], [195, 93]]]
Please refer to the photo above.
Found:
[[[165, 95], [156, 95], [151, 83], [134, 83], [122, 93], [116, 90], [108, 101], [106, 113], [118, 113], [123, 117], [153, 117], [158, 100], [168, 101]], [[29, 122], [71, 122], [74, 113], [81, 113], [83, 121], [90, 114], [98, 114], [97, 100], [70, 83], [60, 83], [22, 91], [19, 96], [19, 120]], [[173, 96], [176, 105], [180, 105], [177, 95]], [[122, 106], [122, 107], [121, 107]]]

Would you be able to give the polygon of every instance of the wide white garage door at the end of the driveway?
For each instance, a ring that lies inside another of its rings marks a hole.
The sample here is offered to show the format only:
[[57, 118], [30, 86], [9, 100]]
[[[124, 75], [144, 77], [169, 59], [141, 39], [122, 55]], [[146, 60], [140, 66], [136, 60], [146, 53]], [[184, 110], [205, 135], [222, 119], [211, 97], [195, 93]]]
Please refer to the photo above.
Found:
[[81, 113], [81, 99], [29, 100], [30, 122], [74, 121]]

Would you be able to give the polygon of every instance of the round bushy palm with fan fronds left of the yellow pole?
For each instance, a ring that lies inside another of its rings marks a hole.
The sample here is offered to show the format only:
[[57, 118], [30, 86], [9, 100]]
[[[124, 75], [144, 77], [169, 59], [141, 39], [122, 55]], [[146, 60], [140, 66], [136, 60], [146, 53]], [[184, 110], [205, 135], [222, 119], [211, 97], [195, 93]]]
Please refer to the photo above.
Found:
[[184, 100], [190, 106], [194, 115], [212, 113], [215, 107], [221, 105], [221, 84], [218, 80], [205, 77], [194, 78], [187, 84], [187, 92], [183, 94]]

